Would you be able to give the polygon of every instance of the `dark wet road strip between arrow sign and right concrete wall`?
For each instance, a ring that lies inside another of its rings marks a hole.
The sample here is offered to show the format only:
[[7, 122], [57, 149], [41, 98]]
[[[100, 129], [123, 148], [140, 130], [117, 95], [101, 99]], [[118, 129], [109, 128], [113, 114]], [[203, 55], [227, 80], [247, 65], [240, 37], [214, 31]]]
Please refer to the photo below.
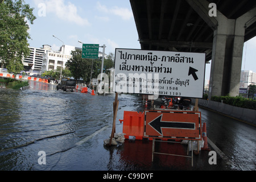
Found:
[[231, 169], [256, 170], [256, 127], [200, 108], [207, 137], [226, 155]]

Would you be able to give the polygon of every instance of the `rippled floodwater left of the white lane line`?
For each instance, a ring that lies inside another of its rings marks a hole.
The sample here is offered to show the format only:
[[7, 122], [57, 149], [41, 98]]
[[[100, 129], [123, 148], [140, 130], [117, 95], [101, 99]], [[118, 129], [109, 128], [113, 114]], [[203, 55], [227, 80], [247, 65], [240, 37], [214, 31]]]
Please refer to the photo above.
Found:
[[[0, 170], [36, 169], [39, 151], [65, 152], [113, 122], [114, 94], [63, 92], [34, 81], [30, 86], [0, 90]], [[123, 94], [118, 100], [119, 109], [138, 107], [138, 96]]]

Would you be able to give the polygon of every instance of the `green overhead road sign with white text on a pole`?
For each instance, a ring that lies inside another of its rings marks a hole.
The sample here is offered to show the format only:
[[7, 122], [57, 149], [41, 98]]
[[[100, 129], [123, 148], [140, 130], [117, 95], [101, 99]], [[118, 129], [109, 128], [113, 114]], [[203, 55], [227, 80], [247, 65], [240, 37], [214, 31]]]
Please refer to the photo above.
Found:
[[98, 44], [82, 44], [82, 58], [98, 59]]

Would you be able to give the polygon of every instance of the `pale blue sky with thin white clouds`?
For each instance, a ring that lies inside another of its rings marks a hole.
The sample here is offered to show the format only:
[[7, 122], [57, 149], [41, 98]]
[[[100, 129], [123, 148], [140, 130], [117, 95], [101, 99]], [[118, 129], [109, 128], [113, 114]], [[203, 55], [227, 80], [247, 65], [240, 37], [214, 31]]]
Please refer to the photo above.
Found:
[[[31, 47], [43, 44], [58, 51], [64, 44], [82, 47], [86, 44], [105, 44], [105, 53], [115, 48], [140, 49], [138, 32], [129, 0], [24, 0], [34, 7], [36, 19], [30, 25]], [[54, 38], [55, 35], [60, 40]], [[102, 48], [99, 49], [102, 52]], [[211, 61], [210, 61], [211, 62]], [[256, 73], [256, 37], [243, 45], [242, 70]], [[210, 64], [205, 67], [209, 80]]]

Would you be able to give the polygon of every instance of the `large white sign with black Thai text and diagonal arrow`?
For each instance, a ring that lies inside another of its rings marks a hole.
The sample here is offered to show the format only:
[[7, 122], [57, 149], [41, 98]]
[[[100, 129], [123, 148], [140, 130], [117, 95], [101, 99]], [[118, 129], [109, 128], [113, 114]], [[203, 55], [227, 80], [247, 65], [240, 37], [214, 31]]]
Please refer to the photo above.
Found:
[[202, 98], [205, 53], [115, 49], [114, 92]]

